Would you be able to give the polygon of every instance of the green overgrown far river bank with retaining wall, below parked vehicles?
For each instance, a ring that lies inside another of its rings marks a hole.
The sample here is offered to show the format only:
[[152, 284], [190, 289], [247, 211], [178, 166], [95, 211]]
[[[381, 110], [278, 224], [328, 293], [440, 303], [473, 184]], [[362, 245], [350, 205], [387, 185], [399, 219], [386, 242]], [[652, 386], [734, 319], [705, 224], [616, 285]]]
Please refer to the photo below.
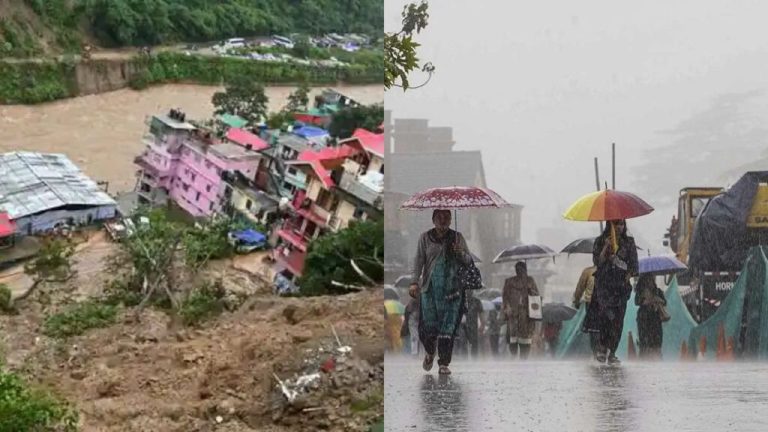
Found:
[[[0, 61], [0, 104], [36, 104], [164, 83], [218, 85], [249, 76], [265, 85], [383, 83], [383, 66], [319, 67], [161, 52], [151, 57]], [[383, 99], [382, 99], [383, 100]]]

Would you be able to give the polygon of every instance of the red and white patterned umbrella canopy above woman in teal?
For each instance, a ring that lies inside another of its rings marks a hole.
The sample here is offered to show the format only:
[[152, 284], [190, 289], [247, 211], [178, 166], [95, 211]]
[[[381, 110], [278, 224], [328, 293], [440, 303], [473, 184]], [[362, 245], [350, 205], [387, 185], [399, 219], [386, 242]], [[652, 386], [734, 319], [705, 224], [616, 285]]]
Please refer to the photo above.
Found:
[[427, 189], [408, 198], [401, 209], [463, 209], [510, 207], [496, 192], [474, 186], [448, 186]]

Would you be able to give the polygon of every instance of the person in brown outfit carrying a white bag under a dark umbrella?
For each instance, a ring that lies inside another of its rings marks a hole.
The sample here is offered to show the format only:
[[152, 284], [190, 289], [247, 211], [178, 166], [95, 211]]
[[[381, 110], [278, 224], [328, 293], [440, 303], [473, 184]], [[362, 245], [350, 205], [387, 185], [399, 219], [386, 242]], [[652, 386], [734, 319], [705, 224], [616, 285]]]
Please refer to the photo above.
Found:
[[533, 341], [536, 322], [528, 316], [528, 296], [539, 295], [539, 289], [532, 277], [528, 276], [525, 262], [515, 264], [516, 275], [504, 281], [502, 310], [507, 319], [507, 340], [512, 356], [528, 358]]

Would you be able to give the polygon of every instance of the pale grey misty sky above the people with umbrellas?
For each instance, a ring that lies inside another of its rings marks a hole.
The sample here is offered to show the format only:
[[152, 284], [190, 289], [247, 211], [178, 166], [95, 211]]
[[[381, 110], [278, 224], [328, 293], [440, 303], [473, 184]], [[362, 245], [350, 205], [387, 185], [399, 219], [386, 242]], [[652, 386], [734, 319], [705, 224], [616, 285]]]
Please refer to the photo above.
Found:
[[[406, 3], [385, 2], [388, 31]], [[482, 150], [489, 187], [525, 206], [523, 241], [569, 230], [554, 248], [596, 234], [561, 215], [595, 189], [593, 157], [610, 185], [616, 142], [616, 188], [656, 208], [629, 228], [664, 252], [681, 187], [725, 185], [768, 156], [766, 16], [759, 1], [432, 0], [417, 41], [437, 72], [386, 107]]]

